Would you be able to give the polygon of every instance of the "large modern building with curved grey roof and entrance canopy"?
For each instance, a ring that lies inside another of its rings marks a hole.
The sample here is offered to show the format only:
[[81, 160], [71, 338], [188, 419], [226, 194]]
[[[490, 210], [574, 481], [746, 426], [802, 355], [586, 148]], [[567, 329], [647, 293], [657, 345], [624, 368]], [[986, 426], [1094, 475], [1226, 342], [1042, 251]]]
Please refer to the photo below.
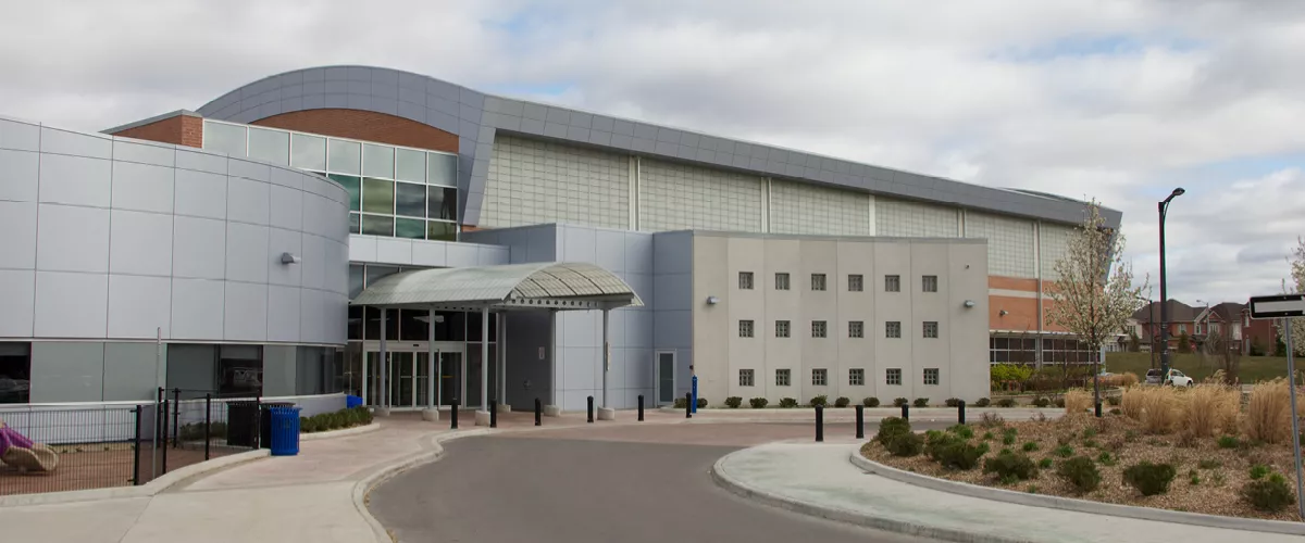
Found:
[[975, 400], [1084, 210], [385, 68], [0, 118], [0, 402]]

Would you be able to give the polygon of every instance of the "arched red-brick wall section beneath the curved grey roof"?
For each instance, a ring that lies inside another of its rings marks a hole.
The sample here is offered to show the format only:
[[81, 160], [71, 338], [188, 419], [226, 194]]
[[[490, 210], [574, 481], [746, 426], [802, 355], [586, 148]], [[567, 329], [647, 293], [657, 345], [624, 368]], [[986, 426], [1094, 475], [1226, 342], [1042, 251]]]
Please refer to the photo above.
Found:
[[454, 134], [414, 120], [371, 111], [307, 109], [274, 115], [251, 124], [432, 151], [458, 152], [458, 137]]

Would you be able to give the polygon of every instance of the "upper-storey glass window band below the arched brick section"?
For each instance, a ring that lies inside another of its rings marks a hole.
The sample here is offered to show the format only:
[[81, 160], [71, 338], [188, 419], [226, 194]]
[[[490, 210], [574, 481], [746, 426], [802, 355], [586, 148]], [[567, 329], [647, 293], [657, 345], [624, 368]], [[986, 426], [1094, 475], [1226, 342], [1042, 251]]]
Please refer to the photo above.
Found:
[[457, 240], [457, 155], [209, 120], [204, 148], [326, 176], [348, 190], [355, 234]]

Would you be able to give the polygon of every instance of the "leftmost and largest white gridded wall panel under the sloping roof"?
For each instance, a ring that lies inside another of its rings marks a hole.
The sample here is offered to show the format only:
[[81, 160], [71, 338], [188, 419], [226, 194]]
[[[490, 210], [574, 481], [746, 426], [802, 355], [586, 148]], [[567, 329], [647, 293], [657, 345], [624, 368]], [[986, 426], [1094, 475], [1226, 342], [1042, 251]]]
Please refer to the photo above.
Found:
[[535, 139], [495, 138], [480, 227], [565, 223], [628, 228], [629, 159]]

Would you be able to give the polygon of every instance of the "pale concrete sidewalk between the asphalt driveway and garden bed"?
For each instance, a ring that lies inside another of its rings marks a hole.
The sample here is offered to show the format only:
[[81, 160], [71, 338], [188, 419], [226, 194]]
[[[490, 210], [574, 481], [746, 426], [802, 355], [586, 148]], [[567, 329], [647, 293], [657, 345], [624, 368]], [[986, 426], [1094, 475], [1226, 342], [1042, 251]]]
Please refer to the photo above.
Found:
[[846, 443], [753, 447], [720, 458], [713, 477], [723, 487], [770, 505], [957, 542], [1305, 542], [1292, 535], [1107, 517], [940, 492], [861, 471], [848, 462], [855, 447]]

